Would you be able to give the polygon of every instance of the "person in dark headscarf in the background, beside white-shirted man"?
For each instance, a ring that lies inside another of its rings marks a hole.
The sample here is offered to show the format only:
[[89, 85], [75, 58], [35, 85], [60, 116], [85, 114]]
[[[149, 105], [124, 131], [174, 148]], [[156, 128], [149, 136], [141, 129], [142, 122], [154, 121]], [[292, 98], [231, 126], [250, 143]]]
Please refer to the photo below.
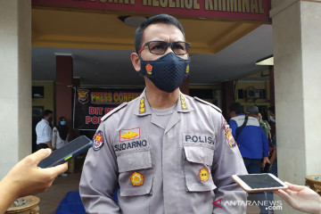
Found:
[[[58, 119], [58, 126], [53, 128], [53, 148], [60, 149], [65, 144], [68, 144], [69, 128], [65, 117]], [[66, 177], [67, 173], [62, 173], [60, 176]]]

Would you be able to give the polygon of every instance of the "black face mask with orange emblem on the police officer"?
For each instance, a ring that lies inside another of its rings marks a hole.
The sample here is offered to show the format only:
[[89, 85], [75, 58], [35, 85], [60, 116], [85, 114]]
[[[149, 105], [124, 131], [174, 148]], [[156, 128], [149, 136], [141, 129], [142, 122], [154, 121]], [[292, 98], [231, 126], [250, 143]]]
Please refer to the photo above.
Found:
[[188, 77], [191, 60], [168, 53], [155, 61], [144, 61], [140, 58], [140, 62], [141, 75], [151, 79], [161, 91], [171, 93]]

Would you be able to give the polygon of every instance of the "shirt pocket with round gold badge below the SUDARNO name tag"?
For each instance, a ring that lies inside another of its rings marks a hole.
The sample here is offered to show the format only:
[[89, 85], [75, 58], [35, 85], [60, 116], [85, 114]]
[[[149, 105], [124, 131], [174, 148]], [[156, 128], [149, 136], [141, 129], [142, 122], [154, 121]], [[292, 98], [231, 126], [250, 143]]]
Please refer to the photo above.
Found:
[[121, 153], [117, 157], [117, 162], [120, 196], [144, 195], [152, 192], [150, 151]]

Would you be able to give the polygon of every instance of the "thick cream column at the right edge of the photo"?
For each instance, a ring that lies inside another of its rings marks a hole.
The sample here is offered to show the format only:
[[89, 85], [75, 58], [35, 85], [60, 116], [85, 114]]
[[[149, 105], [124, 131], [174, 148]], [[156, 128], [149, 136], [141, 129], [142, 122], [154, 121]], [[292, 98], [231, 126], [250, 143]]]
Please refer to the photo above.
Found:
[[278, 176], [304, 185], [321, 172], [321, 3], [272, 3]]

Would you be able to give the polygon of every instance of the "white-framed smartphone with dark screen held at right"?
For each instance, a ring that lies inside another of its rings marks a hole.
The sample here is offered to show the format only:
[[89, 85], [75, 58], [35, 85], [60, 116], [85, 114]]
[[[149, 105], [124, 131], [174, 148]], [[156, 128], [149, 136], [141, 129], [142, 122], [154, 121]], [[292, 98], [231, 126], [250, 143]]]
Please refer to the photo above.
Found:
[[232, 178], [248, 193], [257, 193], [264, 191], [273, 191], [277, 189], [287, 189], [279, 178], [270, 173], [233, 175]]

